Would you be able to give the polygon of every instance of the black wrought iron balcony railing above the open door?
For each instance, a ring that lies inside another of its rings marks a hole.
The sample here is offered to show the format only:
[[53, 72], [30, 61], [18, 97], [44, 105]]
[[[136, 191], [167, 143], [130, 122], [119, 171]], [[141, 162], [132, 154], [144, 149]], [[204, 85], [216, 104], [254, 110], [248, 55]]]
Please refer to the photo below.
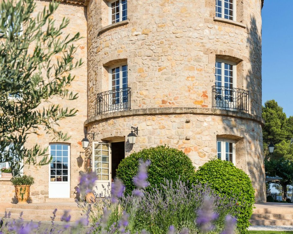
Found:
[[97, 94], [97, 113], [109, 113], [131, 109], [130, 88], [109, 90]]

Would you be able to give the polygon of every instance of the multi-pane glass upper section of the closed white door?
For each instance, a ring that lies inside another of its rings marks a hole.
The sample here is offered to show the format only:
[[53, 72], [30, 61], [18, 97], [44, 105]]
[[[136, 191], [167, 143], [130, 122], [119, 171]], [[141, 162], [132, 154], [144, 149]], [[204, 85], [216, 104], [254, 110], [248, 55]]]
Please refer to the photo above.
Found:
[[52, 157], [50, 181], [68, 181], [69, 145], [59, 143], [51, 144], [50, 153]]

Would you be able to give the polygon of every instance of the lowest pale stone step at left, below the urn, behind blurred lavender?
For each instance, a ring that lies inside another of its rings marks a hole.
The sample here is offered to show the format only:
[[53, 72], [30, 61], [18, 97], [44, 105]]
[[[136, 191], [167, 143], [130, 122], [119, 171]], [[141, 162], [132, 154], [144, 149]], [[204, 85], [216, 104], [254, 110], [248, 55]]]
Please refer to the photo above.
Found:
[[[70, 213], [69, 213], [70, 214]], [[4, 213], [0, 213], [0, 217], [3, 217], [4, 216]], [[22, 219], [24, 221], [35, 221], [35, 222], [38, 222], [38, 221], [51, 221], [51, 217], [50, 216], [53, 216], [53, 214], [50, 214], [50, 215], [45, 215], [45, 214], [28, 214], [28, 215], [25, 215], [23, 214], [22, 215]], [[56, 215], [55, 217], [55, 221], [61, 221], [61, 216], [62, 215]], [[19, 218], [19, 214], [14, 214], [12, 213], [10, 215], [10, 219], [18, 219]], [[77, 221], [78, 219], [81, 218], [81, 215], [77, 215], [77, 214], [72, 214], [71, 216], [71, 219], [70, 219], [70, 222], [75, 222]]]

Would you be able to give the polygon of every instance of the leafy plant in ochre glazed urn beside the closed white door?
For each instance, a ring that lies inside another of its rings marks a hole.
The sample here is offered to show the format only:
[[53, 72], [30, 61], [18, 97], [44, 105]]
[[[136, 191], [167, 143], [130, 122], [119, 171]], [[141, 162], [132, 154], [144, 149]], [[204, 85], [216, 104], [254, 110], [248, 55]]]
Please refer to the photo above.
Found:
[[30, 186], [34, 183], [31, 175], [16, 176], [11, 179], [11, 183], [15, 187], [15, 196], [18, 204], [26, 204], [29, 199]]

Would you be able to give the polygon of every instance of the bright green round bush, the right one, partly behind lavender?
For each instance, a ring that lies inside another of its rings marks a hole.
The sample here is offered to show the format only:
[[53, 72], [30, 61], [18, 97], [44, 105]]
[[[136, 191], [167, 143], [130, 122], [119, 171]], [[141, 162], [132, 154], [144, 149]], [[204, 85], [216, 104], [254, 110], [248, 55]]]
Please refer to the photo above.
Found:
[[[248, 175], [231, 162], [220, 159], [212, 160], [199, 167], [191, 183], [208, 183], [222, 197], [238, 197], [236, 208], [237, 229], [245, 233], [255, 202], [254, 189]], [[232, 214], [233, 215], [233, 214]]]

